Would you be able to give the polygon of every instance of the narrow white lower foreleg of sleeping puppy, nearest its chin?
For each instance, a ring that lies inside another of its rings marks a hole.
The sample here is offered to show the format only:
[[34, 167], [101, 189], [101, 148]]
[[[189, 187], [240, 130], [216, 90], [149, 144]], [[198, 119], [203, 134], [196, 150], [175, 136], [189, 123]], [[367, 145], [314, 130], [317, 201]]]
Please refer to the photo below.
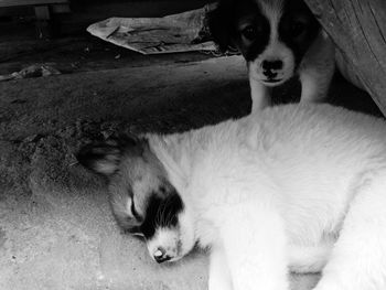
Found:
[[214, 246], [210, 258], [208, 290], [232, 290], [228, 262], [222, 246]]

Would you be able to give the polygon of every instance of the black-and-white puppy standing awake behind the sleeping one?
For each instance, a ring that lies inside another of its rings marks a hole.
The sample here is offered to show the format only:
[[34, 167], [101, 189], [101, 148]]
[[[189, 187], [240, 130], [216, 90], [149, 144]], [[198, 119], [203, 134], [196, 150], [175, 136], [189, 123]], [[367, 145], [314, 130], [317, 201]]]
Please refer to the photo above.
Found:
[[294, 75], [301, 101], [325, 98], [334, 45], [301, 0], [222, 0], [208, 24], [221, 50], [236, 46], [245, 57], [253, 111], [270, 104], [271, 87]]

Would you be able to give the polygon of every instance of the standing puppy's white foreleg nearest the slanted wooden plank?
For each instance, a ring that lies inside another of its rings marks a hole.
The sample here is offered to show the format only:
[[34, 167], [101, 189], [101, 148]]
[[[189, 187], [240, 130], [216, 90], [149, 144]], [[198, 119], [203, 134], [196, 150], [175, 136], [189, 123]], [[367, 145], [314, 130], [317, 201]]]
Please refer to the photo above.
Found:
[[324, 32], [321, 32], [303, 56], [299, 67], [300, 101], [323, 101], [328, 96], [334, 68], [334, 44]]

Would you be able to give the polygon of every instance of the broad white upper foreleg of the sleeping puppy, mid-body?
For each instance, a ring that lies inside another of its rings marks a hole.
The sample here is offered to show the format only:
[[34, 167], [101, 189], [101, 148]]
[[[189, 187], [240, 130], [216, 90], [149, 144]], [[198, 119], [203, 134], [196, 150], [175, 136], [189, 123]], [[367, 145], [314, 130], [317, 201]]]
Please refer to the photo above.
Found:
[[276, 210], [248, 202], [222, 214], [219, 236], [234, 290], [288, 289], [286, 234]]

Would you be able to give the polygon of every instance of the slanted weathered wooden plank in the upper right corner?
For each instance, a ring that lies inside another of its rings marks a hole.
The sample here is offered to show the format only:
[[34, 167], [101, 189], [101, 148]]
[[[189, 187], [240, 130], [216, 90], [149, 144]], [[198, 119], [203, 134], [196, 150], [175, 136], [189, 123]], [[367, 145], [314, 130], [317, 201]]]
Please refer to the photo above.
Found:
[[386, 116], [386, 1], [305, 2]]

